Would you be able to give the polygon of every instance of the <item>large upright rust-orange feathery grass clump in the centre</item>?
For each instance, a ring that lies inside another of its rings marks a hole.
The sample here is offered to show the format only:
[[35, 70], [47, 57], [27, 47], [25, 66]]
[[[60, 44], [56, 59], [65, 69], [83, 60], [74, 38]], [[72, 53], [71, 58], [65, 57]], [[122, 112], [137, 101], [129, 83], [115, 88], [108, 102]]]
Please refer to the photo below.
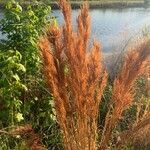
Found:
[[98, 106], [107, 83], [100, 45], [88, 50], [90, 17], [85, 3], [74, 32], [71, 6], [60, 0], [65, 24], [52, 24], [39, 46], [45, 76], [53, 93], [57, 120], [66, 150], [95, 150]]

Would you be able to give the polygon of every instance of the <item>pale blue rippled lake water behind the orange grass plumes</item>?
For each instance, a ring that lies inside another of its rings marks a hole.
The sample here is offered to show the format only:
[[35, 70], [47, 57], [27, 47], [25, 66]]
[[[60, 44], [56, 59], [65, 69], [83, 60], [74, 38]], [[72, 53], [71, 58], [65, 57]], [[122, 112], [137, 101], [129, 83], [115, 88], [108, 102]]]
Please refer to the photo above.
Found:
[[[77, 12], [72, 12], [74, 25]], [[54, 10], [52, 15], [57, 17], [59, 24], [63, 23], [59, 10]], [[101, 42], [105, 53], [121, 51], [130, 38], [139, 35], [150, 25], [150, 8], [92, 9], [90, 16], [92, 39]]]

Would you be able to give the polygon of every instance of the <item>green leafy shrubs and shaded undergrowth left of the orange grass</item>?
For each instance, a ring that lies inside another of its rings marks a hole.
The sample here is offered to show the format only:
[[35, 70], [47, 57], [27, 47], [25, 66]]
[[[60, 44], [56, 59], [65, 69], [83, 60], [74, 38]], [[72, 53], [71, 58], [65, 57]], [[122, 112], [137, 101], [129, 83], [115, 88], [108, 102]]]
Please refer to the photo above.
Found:
[[[21, 7], [11, 0], [4, 12], [0, 21], [0, 31], [6, 37], [0, 41], [0, 129], [30, 123], [45, 145], [54, 147], [61, 138], [56, 138], [60, 137], [59, 128], [37, 46], [44, 26], [49, 23], [50, 7], [45, 4]], [[51, 136], [56, 137], [51, 140]], [[24, 142], [2, 134], [0, 147], [24, 149]]]

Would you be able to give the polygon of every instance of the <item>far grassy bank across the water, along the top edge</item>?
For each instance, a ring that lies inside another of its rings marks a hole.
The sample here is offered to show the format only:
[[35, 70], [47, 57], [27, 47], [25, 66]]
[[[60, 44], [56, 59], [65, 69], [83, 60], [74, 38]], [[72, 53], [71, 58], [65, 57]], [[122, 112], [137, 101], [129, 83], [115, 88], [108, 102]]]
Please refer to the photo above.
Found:
[[[27, 5], [29, 3], [32, 3], [31, 1], [20, 1], [22, 5]], [[0, 1], [0, 7], [4, 7], [6, 3], [6, 0]], [[53, 9], [58, 9], [58, 3], [53, 0], [41, 0], [40, 3], [46, 3], [48, 5], [51, 5]], [[72, 8], [80, 8], [83, 1], [80, 0], [72, 0], [71, 5]], [[89, 0], [90, 8], [127, 8], [127, 7], [144, 7], [144, 0]]]

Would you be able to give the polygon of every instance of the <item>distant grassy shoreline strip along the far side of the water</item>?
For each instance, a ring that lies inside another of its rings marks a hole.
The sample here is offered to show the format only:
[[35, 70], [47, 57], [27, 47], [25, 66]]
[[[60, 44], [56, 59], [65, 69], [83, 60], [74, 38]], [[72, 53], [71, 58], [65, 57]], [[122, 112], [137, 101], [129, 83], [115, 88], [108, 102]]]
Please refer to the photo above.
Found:
[[[78, 9], [81, 7], [84, 1], [70, 1], [72, 9]], [[150, 7], [144, 3], [144, 1], [106, 1], [106, 2], [101, 2], [101, 1], [88, 1], [89, 3], [89, 8], [91, 9], [106, 9], [106, 8], [147, 8]], [[23, 7], [26, 7], [28, 4], [33, 4], [30, 2], [22, 3], [21, 5]], [[40, 4], [40, 3], [39, 3]], [[0, 8], [4, 8], [4, 3], [0, 3]], [[34, 5], [34, 4], [33, 4]], [[57, 2], [50, 2], [47, 5], [51, 6], [53, 10], [59, 9], [59, 5]]]

